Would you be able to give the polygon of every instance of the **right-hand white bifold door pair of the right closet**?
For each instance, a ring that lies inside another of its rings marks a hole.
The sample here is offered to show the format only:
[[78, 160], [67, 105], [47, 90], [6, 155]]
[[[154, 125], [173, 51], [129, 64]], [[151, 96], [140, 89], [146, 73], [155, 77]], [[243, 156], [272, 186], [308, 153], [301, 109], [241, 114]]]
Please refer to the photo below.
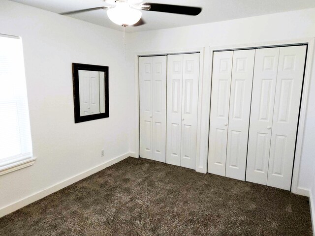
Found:
[[306, 46], [256, 51], [246, 180], [290, 190]]

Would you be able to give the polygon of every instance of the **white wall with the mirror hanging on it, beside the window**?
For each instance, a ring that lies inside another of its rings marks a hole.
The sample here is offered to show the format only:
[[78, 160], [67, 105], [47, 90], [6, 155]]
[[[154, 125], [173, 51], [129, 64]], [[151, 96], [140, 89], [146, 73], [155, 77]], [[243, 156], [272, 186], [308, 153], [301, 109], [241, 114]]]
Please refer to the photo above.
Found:
[[[0, 33], [23, 40], [37, 158], [0, 176], [1, 209], [127, 153], [130, 86], [120, 31], [0, 0]], [[109, 66], [109, 118], [74, 123], [72, 62]]]

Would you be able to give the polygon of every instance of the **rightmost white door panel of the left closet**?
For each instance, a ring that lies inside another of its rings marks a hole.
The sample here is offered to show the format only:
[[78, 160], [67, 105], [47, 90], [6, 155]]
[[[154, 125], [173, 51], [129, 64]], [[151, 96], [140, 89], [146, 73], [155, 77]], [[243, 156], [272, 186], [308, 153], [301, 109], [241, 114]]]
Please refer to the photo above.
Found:
[[199, 53], [183, 55], [181, 166], [196, 169]]

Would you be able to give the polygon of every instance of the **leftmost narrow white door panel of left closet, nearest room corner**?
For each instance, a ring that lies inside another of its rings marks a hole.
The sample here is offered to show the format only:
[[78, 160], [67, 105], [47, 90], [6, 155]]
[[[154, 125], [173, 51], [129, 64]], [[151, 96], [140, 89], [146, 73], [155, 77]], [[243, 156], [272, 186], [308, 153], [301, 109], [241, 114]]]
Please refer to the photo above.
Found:
[[153, 159], [152, 57], [139, 58], [140, 157]]

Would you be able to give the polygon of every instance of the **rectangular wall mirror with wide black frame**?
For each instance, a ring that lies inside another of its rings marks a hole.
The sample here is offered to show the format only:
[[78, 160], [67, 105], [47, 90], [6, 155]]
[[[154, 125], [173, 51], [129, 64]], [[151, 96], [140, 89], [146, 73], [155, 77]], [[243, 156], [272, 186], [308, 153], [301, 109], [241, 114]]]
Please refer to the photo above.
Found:
[[109, 117], [108, 66], [72, 63], [74, 122]]

